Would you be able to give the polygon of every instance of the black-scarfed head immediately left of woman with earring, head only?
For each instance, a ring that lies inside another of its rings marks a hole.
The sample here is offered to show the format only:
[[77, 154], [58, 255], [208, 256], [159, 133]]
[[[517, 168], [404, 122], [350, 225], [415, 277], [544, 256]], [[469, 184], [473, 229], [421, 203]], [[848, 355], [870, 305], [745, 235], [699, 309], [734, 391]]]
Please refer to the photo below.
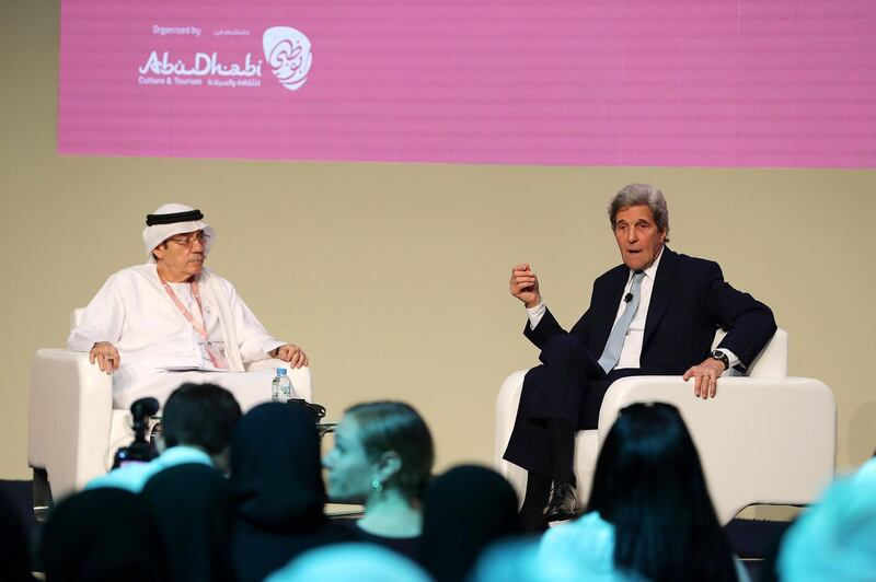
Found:
[[304, 407], [256, 406], [241, 419], [231, 449], [238, 517], [274, 533], [307, 533], [324, 523], [320, 442]]

